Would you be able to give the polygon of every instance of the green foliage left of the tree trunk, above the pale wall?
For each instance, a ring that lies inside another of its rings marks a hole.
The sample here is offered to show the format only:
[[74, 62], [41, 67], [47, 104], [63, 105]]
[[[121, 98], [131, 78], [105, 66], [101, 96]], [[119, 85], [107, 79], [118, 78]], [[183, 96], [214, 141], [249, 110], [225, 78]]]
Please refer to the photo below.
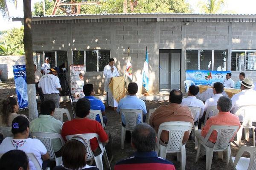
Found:
[[23, 26], [13, 28], [2, 34], [3, 41], [0, 42], [0, 55], [22, 55], [24, 54]]

